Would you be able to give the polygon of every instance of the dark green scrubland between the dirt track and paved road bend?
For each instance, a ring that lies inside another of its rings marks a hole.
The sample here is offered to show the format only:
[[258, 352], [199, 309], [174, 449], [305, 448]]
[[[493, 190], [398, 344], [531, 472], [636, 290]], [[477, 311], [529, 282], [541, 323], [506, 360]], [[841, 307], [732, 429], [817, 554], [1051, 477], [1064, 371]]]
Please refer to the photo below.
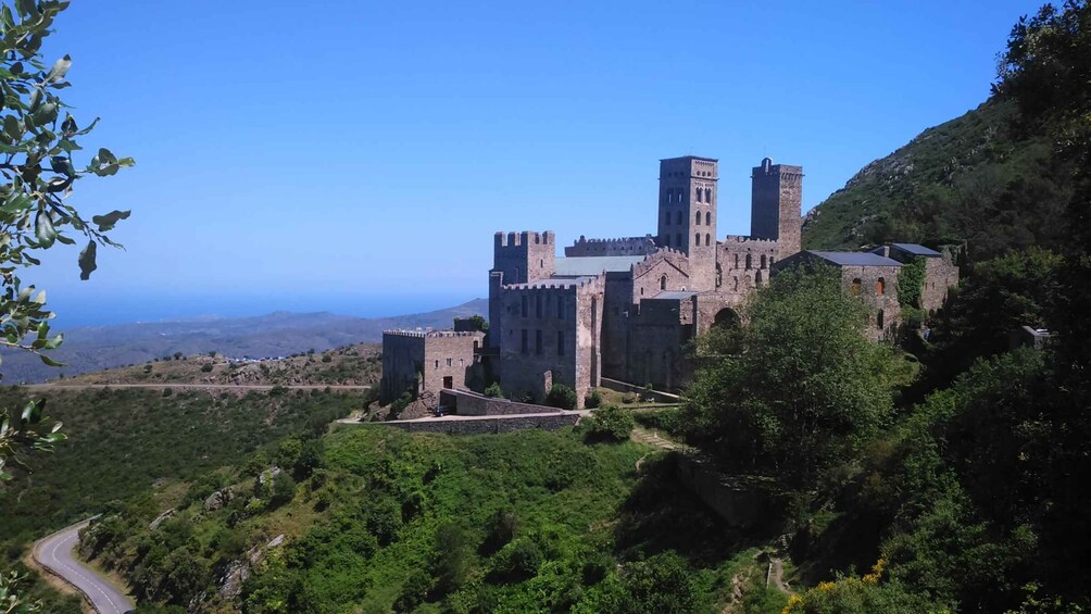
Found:
[[[0, 404], [21, 407], [21, 388], [0, 388]], [[184, 481], [288, 435], [313, 436], [360, 408], [358, 394], [275, 390], [209, 395], [100, 389], [52, 393], [49, 414], [69, 440], [31, 460], [33, 473], [13, 496], [0, 496], [0, 561], [4, 568], [49, 531], [99, 514], [140, 494], [171, 501]]]

